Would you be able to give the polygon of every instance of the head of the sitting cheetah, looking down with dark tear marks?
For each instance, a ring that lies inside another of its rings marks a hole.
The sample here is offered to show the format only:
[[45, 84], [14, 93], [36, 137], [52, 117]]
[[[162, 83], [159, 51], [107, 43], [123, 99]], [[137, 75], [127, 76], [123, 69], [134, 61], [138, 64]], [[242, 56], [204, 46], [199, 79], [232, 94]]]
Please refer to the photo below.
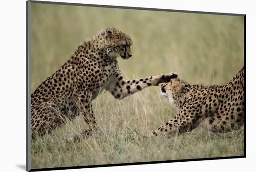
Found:
[[105, 53], [111, 57], [120, 57], [124, 60], [132, 57], [130, 46], [132, 40], [124, 33], [115, 28], [106, 28], [103, 32], [105, 38]]

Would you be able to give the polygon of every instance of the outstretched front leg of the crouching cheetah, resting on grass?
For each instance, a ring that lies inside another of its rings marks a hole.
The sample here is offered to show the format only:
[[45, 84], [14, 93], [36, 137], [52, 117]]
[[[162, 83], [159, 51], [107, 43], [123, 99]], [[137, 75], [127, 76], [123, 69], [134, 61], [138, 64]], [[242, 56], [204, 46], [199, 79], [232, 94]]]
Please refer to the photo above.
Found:
[[191, 112], [186, 108], [182, 108], [180, 112], [167, 123], [151, 133], [151, 136], [157, 136], [163, 133], [180, 134], [189, 132], [199, 125], [200, 115], [197, 112]]

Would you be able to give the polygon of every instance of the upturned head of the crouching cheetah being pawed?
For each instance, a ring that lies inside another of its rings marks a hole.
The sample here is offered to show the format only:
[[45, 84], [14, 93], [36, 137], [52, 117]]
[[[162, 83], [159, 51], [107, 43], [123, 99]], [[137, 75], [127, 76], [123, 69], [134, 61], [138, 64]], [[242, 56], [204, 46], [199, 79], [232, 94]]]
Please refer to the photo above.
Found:
[[167, 97], [172, 106], [180, 108], [184, 95], [189, 92], [191, 86], [180, 79], [171, 79], [167, 84], [162, 85], [161, 94]]

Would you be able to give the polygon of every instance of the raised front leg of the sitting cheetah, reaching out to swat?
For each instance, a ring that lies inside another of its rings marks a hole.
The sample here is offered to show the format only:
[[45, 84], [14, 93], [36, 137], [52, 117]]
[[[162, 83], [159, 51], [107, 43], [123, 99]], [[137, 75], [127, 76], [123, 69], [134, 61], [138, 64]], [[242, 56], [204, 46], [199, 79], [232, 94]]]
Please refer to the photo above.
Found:
[[141, 79], [124, 80], [121, 73], [116, 73], [114, 74], [110, 86], [106, 89], [110, 91], [116, 99], [123, 99], [124, 97], [139, 92], [148, 86], [158, 86], [158, 84], [163, 82], [169, 82], [170, 79], [177, 78], [177, 76], [177, 73], [166, 73]]

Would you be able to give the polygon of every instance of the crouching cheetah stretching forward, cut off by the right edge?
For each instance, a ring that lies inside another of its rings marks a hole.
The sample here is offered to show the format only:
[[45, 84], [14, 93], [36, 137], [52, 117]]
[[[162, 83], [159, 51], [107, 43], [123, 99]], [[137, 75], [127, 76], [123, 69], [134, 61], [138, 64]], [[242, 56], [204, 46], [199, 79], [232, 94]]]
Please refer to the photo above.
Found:
[[217, 132], [243, 126], [244, 67], [225, 86], [191, 86], [180, 79], [172, 79], [162, 86], [161, 93], [179, 113], [152, 132], [153, 136], [188, 132], [202, 121]]

